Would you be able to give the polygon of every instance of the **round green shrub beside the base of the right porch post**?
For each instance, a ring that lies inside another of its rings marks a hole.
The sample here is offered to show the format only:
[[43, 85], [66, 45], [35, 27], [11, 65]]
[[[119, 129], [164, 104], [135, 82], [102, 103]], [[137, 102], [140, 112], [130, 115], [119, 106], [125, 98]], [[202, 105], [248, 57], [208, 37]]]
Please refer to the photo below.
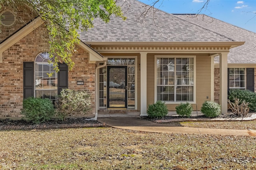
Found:
[[205, 101], [202, 104], [201, 112], [206, 117], [217, 117], [221, 113], [221, 107], [218, 103], [212, 101]]

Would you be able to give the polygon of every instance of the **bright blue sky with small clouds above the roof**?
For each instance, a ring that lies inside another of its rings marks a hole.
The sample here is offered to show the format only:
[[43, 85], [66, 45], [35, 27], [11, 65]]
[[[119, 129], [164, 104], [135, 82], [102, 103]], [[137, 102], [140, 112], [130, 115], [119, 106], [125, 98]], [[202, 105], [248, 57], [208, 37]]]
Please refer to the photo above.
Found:
[[[156, 0], [139, 0], [152, 4]], [[155, 8], [171, 14], [197, 14], [206, 0], [159, 0]], [[256, 33], [256, 0], [210, 0], [206, 14]]]

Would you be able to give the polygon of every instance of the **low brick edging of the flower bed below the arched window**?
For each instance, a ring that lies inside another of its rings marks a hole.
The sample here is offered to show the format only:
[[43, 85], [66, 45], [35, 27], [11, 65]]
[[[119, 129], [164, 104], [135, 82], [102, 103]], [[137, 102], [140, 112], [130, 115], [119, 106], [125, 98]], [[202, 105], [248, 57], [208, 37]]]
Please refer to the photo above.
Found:
[[67, 128], [85, 128], [85, 127], [105, 127], [104, 123], [73, 123], [56, 125], [2, 125], [0, 131], [4, 130], [32, 130], [32, 129], [67, 129]]

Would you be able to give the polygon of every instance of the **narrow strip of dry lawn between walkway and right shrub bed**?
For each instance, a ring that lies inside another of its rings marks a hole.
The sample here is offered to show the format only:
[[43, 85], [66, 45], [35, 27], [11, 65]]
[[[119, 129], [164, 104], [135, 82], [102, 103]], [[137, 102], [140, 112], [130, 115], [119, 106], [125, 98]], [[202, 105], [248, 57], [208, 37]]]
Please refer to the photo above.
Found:
[[167, 124], [174, 125], [174, 126], [186, 126], [186, 127], [256, 130], [256, 120], [254, 121], [189, 121], [189, 122], [170, 122]]

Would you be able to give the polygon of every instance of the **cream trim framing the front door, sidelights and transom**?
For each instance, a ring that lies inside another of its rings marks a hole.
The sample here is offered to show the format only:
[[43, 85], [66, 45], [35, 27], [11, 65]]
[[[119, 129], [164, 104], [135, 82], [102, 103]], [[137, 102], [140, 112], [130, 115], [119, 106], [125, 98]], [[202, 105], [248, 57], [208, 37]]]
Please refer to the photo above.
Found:
[[[137, 78], [137, 75], [138, 75], [138, 57], [136, 55], [116, 55], [116, 56], [104, 56], [104, 57], [107, 57], [108, 59], [135, 59], [135, 108], [134, 109], [130, 109], [130, 110], [137, 110], [138, 109], [138, 78]], [[106, 65], [107, 66], [107, 65]], [[126, 65], [126, 66], [132, 66], [132, 65]], [[98, 72], [98, 84], [97, 86], [100, 87], [100, 72]], [[98, 89], [98, 88], [96, 88]], [[106, 107], [100, 107], [99, 104], [100, 104], [100, 93], [99, 93], [100, 90], [98, 90], [98, 95], [97, 95], [97, 100], [98, 100], [98, 108], [99, 109], [107, 109]], [[108, 101], [107, 101], [108, 102]], [[129, 110], [129, 108], [127, 107], [127, 109]]]

